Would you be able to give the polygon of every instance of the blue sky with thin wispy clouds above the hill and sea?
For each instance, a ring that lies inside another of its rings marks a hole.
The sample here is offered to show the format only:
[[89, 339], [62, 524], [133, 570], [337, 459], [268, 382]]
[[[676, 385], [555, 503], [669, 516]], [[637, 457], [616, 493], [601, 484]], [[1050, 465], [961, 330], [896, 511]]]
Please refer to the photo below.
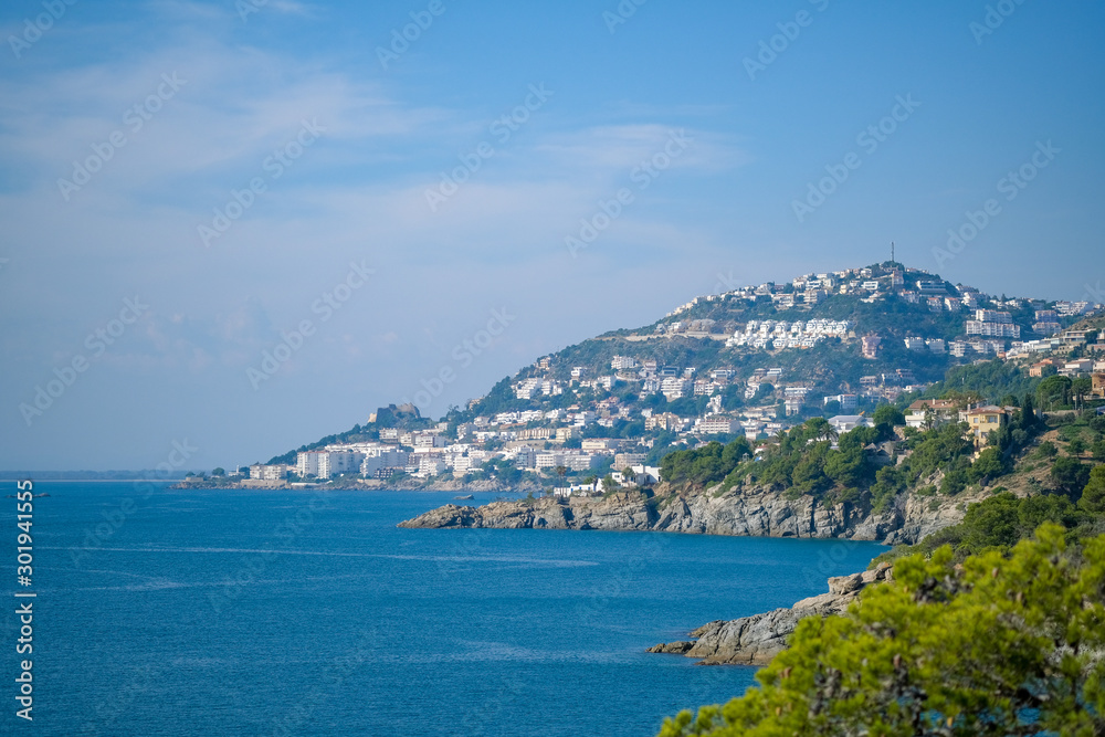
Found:
[[955, 283], [1105, 302], [1103, 21], [9, 0], [0, 468], [229, 468], [391, 402], [441, 417], [541, 355], [892, 241]]

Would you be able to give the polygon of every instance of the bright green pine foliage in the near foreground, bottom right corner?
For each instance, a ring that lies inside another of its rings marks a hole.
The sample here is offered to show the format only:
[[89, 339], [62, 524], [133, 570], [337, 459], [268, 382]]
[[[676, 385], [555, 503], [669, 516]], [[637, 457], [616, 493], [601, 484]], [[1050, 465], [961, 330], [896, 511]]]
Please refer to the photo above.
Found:
[[1072, 555], [1044, 525], [961, 567], [945, 546], [860, 600], [802, 620], [759, 687], [660, 736], [1105, 733], [1105, 536]]

